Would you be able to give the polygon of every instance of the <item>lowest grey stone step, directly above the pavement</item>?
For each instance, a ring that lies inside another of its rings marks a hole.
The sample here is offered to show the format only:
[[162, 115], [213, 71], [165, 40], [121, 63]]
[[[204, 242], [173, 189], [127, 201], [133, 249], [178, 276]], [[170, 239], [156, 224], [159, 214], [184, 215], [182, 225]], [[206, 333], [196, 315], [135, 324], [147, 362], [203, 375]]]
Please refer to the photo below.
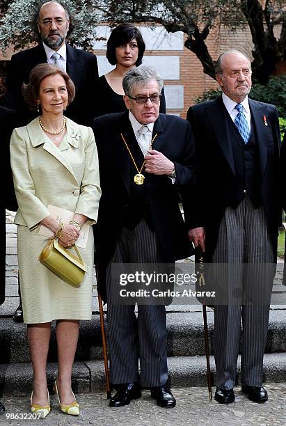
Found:
[[[212, 384], [216, 383], [214, 357], [210, 358]], [[205, 356], [171, 356], [168, 358], [170, 385], [173, 388], [205, 386], [206, 401], [207, 379]], [[48, 388], [52, 393], [52, 383], [56, 378], [57, 364], [47, 364]], [[237, 384], [240, 384], [240, 356], [237, 363]], [[32, 390], [33, 369], [30, 363], [0, 365], [0, 394], [30, 395]], [[286, 354], [264, 355], [263, 382], [286, 381]], [[72, 373], [72, 387], [75, 393], [89, 393], [105, 387], [103, 361], [75, 362]]]

